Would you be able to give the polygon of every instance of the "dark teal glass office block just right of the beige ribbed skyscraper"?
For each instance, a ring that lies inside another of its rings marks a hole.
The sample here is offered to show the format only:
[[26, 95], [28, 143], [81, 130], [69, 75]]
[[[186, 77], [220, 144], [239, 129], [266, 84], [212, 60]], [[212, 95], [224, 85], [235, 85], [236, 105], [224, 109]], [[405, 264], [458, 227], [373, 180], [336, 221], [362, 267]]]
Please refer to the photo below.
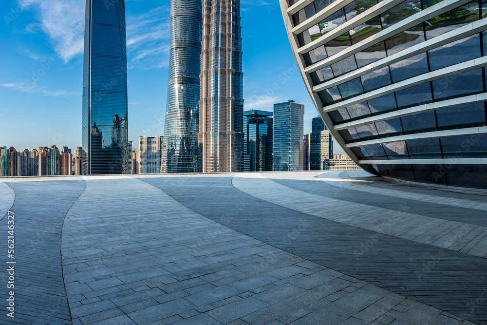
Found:
[[244, 172], [272, 171], [272, 112], [244, 112]]

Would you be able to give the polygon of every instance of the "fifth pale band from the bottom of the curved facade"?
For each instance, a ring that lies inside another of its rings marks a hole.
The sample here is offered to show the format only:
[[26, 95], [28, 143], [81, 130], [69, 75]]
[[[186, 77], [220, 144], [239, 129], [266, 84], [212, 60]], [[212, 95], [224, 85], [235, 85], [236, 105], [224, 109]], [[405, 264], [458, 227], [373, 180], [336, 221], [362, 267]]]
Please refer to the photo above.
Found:
[[[466, 38], [468, 36], [482, 32], [486, 29], [487, 29], [487, 19], [477, 20], [477, 21], [469, 23], [465, 26], [454, 29], [448, 33], [439, 35], [435, 38], [431, 38], [431, 39], [428, 39], [422, 43], [413, 45], [413, 46], [411, 46], [405, 50], [394, 53], [391, 56], [384, 57], [378, 61], [375, 61], [373, 63], [365, 65], [361, 68], [358, 68], [354, 71], [346, 73], [342, 76], [338, 76], [338, 77], [333, 78], [331, 80], [328, 80], [324, 83], [316, 85], [313, 87], [313, 91], [319, 92], [321, 90], [325, 90], [325, 89], [337, 86], [337, 85], [342, 84], [344, 82], [358, 78], [359, 76], [366, 75], [372, 71], [379, 70], [381, 68], [387, 67], [393, 63], [399, 62], [399, 61], [406, 59], [408, 57], [413, 57], [415, 55], [429, 51], [431, 49], [449, 44], [451, 42], [457, 41], [457, 40], [462, 39], [462, 38]], [[318, 65], [318, 63], [319, 63], [319, 65]], [[315, 65], [309, 66], [308, 68], [306, 68], [304, 70], [304, 72], [311, 73], [313, 71], [317, 71], [320, 68], [322, 68], [321, 61], [315, 63]]]

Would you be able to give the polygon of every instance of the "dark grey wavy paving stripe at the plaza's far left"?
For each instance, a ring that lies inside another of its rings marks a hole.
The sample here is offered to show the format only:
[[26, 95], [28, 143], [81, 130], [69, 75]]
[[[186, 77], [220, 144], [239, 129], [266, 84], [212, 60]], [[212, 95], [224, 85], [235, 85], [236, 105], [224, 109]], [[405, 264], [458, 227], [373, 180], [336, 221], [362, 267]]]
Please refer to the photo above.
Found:
[[[7, 260], [5, 250], [0, 261], [4, 266], [7, 261], [17, 262], [13, 288], [16, 308], [15, 319], [7, 317], [2, 308], [0, 324], [71, 324], [59, 256], [61, 228], [85, 182], [12, 180], [8, 185], [15, 191], [15, 203], [10, 209], [15, 213], [15, 258]], [[7, 221], [6, 217], [0, 221], [5, 249]], [[7, 282], [6, 268], [0, 272], [2, 284]], [[7, 291], [2, 285], [3, 298]]]

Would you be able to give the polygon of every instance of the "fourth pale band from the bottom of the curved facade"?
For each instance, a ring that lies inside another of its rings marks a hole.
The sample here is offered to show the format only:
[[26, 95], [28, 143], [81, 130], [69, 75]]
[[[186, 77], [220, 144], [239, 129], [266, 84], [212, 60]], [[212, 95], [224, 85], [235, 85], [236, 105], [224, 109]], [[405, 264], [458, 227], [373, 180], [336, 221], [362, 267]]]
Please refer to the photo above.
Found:
[[350, 105], [358, 104], [366, 100], [374, 99], [383, 95], [391, 94], [393, 92], [397, 92], [403, 89], [411, 88], [413, 86], [421, 85], [430, 81], [438, 80], [444, 77], [448, 76], [455, 76], [462, 74], [464, 72], [469, 72], [472, 70], [476, 70], [479, 68], [483, 68], [487, 66], [487, 57], [479, 57], [475, 58], [473, 60], [468, 60], [462, 63], [454, 64], [449, 67], [443, 68], [443, 69], [438, 69], [432, 72], [428, 72], [423, 75], [415, 76], [403, 81], [399, 81], [396, 83], [393, 83], [389, 86], [385, 86], [376, 90], [373, 90], [371, 92], [367, 92], [365, 94], [361, 94], [355, 97], [352, 97], [347, 100], [343, 100], [340, 102], [337, 102], [332, 105], [328, 105], [323, 107], [323, 112], [331, 112], [331, 111], [336, 111], [337, 109], [347, 107]]

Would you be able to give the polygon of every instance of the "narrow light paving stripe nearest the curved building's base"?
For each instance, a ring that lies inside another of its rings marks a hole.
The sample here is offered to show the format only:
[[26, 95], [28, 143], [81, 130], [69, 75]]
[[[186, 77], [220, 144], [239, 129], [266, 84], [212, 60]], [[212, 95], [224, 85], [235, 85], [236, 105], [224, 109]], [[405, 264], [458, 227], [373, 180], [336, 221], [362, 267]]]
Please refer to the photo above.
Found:
[[369, 183], [370, 181], [351, 179], [352, 177], [360, 177], [366, 175], [370, 174], [366, 172], [323, 172], [318, 175], [318, 178], [327, 184], [354, 191], [362, 191], [377, 195], [398, 197], [406, 200], [443, 204], [452, 207], [461, 207], [482, 211], [487, 210], [487, 202], [456, 199], [441, 195], [430, 195], [426, 193], [411, 193], [405, 191], [397, 191], [393, 189], [381, 189], [373, 186], [368, 186], [367, 183]]

